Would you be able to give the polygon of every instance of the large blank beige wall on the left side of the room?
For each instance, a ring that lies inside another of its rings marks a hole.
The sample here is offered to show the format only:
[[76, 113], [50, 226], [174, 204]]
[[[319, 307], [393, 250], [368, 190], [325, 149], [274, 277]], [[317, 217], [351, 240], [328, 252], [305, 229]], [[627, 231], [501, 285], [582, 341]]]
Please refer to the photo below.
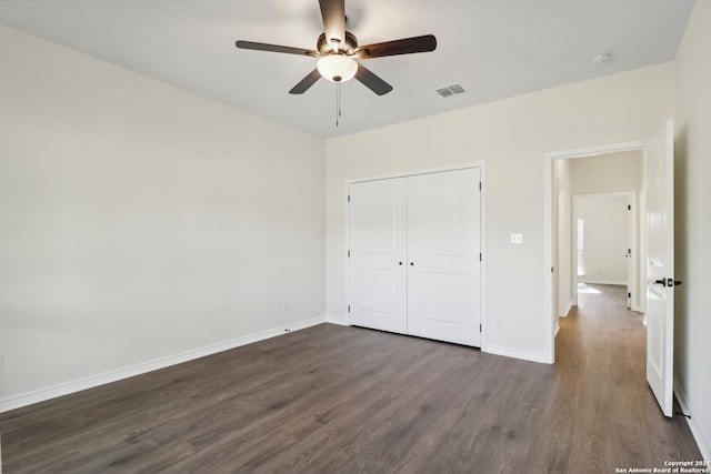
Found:
[[0, 64], [0, 402], [322, 319], [321, 139], [4, 27]]

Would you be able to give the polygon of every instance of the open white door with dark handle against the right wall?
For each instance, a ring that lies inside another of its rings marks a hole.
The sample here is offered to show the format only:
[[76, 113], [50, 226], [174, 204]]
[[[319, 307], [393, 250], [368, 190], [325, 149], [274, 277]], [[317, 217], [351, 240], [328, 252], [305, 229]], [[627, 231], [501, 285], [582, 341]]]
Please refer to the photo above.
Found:
[[674, 349], [674, 125], [647, 150], [647, 381], [672, 416]]

